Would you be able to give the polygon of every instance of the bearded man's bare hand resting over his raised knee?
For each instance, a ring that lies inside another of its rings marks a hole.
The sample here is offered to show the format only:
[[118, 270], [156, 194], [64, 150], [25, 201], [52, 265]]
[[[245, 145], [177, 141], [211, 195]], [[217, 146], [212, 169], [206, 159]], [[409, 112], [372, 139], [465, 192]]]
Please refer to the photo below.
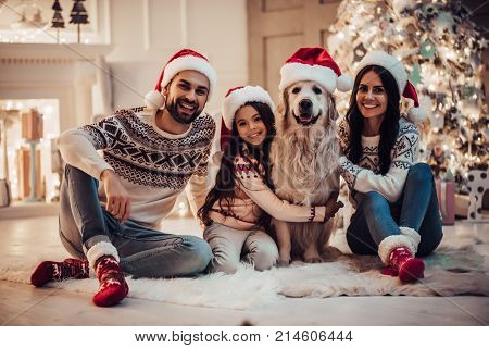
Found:
[[104, 170], [100, 175], [106, 197], [106, 211], [124, 223], [130, 215], [129, 194], [113, 170]]

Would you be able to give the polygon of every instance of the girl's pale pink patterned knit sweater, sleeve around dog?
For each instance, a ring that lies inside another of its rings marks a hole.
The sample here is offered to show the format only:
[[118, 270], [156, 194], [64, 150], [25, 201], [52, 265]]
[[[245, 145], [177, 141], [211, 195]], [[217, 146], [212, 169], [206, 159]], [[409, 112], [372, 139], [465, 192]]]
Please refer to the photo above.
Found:
[[[256, 167], [259, 169], [256, 171]], [[263, 179], [265, 170], [250, 157], [235, 159], [234, 173], [236, 190], [233, 203], [214, 203], [209, 217], [217, 223], [236, 229], [256, 228], [264, 212], [272, 217], [288, 222], [322, 222], [326, 208], [290, 204], [279, 199]]]

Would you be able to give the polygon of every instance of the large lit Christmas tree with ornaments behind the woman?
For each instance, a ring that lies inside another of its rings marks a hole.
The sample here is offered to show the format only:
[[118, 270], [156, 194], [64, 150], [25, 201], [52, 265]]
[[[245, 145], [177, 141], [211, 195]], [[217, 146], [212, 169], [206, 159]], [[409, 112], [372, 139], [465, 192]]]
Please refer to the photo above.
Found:
[[[488, 42], [469, 12], [456, 1], [343, 0], [330, 32], [328, 50], [352, 76], [367, 51], [404, 63], [428, 110], [421, 160], [437, 176], [453, 173], [459, 192], [467, 192], [467, 172], [487, 170], [489, 161], [481, 59]], [[347, 104], [339, 102], [343, 113]]]

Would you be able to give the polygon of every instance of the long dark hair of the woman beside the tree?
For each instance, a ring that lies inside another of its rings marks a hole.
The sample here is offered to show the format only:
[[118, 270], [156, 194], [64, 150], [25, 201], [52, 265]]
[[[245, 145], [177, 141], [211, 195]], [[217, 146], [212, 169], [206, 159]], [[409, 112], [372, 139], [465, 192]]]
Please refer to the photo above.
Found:
[[387, 92], [387, 110], [380, 124], [380, 140], [378, 144], [380, 174], [385, 175], [389, 171], [391, 162], [390, 151], [396, 144], [399, 133], [399, 117], [401, 116], [399, 102], [401, 97], [396, 79], [381, 66], [367, 65], [356, 75], [353, 92], [350, 98], [350, 108], [346, 116], [350, 126], [350, 139], [346, 154], [354, 164], [358, 164], [362, 158], [362, 133], [365, 119], [362, 116], [356, 104], [356, 92], [359, 91], [362, 77], [369, 71], [374, 71], [380, 77], [384, 89]]

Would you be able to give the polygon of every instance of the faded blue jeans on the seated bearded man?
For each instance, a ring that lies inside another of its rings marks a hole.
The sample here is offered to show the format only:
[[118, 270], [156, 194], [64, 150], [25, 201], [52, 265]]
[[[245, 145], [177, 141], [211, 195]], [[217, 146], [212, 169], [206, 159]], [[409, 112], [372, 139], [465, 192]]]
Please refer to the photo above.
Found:
[[66, 165], [61, 187], [60, 237], [74, 257], [99, 241], [117, 249], [121, 268], [136, 277], [173, 277], [202, 272], [212, 259], [201, 238], [162, 233], [127, 220], [122, 224], [101, 207], [99, 182], [85, 172]]

